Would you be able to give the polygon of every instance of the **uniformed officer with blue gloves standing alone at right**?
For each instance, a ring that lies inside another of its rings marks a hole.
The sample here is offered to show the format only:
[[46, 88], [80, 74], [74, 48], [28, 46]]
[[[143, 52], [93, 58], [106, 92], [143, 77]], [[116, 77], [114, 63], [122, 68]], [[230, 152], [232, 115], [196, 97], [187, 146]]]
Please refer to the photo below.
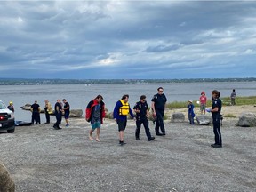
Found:
[[220, 132], [220, 112], [221, 112], [221, 107], [222, 107], [222, 102], [220, 100], [220, 92], [217, 90], [212, 91], [212, 97], [213, 97], [213, 102], [212, 102], [212, 109], [207, 108], [207, 112], [212, 112], [212, 124], [213, 124], [213, 132], [215, 135], [215, 143], [212, 144], [212, 148], [222, 148], [222, 139], [221, 139], [221, 132]]

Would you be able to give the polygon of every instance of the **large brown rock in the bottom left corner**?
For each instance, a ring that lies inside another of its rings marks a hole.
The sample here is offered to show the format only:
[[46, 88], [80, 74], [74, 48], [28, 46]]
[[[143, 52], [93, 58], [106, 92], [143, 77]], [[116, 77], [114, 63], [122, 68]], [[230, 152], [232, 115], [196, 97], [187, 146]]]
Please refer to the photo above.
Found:
[[0, 191], [14, 192], [15, 184], [4, 164], [0, 161]]

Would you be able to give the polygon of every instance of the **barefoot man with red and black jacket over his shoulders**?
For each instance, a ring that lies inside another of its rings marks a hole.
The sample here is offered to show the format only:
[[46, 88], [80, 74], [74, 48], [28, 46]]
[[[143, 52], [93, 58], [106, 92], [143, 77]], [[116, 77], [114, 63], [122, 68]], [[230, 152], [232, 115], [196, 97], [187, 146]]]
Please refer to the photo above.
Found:
[[96, 129], [96, 141], [100, 142], [100, 125], [103, 124], [105, 117], [105, 103], [102, 101], [103, 97], [98, 95], [94, 100], [91, 100], [85, 112], [86, 121], [91, 122], [92, 129], [89, 132], [89, 140], [93, 140], [92, 132]]

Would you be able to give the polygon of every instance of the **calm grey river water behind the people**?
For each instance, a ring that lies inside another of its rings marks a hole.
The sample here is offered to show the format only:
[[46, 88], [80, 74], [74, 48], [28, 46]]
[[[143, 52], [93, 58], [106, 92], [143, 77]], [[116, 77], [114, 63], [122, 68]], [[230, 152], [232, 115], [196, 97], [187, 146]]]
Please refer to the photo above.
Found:
[[[113, 111], [116, 101], [122, 95], [130, 95], [130, 105], [133, 106], [140, 100], [140, 95], [145, 94], [150, 103], [156, 94], [156, 89], [164, 87], [164, 93], [168, 102], [198, 100], [202, 91], [211, 99], [211, 91], [217, 89], [220, 97], [227, 97], [236, 89], [237, 96], [256, 95], [255, 82], [216, 82], [216, 83], [166, 83], [166, 84], [51, 84], [51, 85], [1, 85], [0, 100], [7, 105], [10, 100], [15, 107], [16, 120], [30, 121], [31, 113], [21, 110], [26, 103], [33, 104], [35, 100], [41, 108], [44, 108], [44, 100], [49, 100], [54, 106], [57, 99], [65, 98], [71, 109], [84, 109], [87, 103], [101, 94], [106, 108]], [[84, 115], [83, 115], [84, 116]], [[42, 117], [44, 119], [44, 117]], [[44, 120], [42, 120], [44, 122]]]

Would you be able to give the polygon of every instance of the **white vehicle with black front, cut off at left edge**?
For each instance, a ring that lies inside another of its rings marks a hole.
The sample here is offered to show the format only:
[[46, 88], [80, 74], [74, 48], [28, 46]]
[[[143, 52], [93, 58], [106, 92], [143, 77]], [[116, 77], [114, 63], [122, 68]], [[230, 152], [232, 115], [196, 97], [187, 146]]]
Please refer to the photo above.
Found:
[[15, 131], [15, 119], [13, 112], [9, 110], [4, 102], [0, 100], [0, 131], [7, 130], [7, 132]]

